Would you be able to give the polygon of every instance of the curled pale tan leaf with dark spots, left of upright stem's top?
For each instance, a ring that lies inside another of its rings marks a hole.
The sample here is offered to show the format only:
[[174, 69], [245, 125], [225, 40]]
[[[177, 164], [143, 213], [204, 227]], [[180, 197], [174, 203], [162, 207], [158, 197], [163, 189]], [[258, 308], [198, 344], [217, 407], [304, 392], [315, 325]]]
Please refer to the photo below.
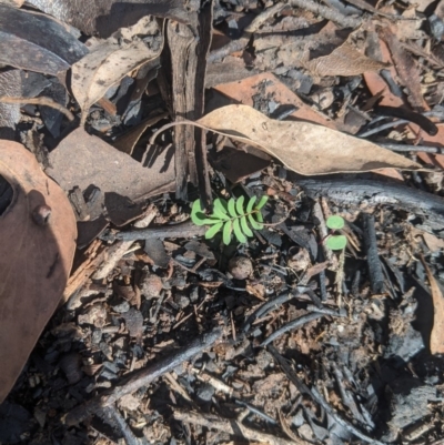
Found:
[[90, 53], [72, 65], [71, 88], [82, 109], [83, 122], [90, 107], [103, 98], [110, 87], [160, 54], [160, 29], [154, 19], [149, 20], [145, 34], [150, 36], [150, 43], [139, 39], [125, 43], [128, 40], [113, 37], [103, 42], [94, 40]]

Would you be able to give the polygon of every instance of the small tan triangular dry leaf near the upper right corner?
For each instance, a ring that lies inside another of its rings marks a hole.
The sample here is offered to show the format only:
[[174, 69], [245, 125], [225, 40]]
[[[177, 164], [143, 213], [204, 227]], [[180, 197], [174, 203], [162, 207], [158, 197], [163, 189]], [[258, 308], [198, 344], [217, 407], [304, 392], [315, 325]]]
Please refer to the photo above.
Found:
[[304, 63], [314, 75], [359, 75], [366, 71], [377, 71], [387, 64], [370, 59], [357, 51], [350, 42], [343, 43], [329, 55]]

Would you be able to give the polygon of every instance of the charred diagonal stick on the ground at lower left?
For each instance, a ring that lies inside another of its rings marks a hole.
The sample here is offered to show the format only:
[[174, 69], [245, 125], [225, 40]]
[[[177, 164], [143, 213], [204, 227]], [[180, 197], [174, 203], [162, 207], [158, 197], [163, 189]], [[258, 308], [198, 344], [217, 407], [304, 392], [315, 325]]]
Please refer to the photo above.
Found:
[[111, 406], [121, 397], [138, 391], [140, 387], [149, 385], [155, 378], [173, 371], [183, 362], [186, 362], [195, 355], [202, 353], [203, 350], [211, 347], [215, 341], [222, 335], [220, 328], [214, 328], [210, 333], [193, 340], [185, 348], [176, 353], [159, 360], [151, 366], [131, 373], [121, 386], [115, 386], [111, 391], [100, 394], [90, 401], [71, 409], [63, 418], [67, 425], [77, 425], [85, 418], [92, 416], [103, 406]]

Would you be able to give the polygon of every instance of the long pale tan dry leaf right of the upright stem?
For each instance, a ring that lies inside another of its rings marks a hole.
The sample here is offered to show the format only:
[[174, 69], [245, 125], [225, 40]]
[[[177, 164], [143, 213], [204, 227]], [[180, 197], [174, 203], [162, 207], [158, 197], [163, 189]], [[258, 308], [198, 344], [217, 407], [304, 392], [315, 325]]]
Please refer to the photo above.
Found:
[[246, 105], [222, 107], [199, 119], [206, 130], [253, 144], [304, 175], [421, 165], [372, 142], [309, 122], [282, 122]]

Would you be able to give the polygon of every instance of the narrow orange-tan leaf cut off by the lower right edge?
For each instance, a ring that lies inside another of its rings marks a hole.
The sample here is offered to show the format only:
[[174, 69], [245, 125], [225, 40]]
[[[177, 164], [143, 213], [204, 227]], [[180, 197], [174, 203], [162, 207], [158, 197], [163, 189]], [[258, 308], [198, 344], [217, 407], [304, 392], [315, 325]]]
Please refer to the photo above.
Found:
[[440, 286], [436, 283], [424, 256], [421, 254], [421, 262], [424, 265], [425, 273], [427, 274], [428, 285], [431, 287], [433, 300], [433, 328], [430, 338], [430, 348], [432, 355], [444, 353], [444, 296]]

